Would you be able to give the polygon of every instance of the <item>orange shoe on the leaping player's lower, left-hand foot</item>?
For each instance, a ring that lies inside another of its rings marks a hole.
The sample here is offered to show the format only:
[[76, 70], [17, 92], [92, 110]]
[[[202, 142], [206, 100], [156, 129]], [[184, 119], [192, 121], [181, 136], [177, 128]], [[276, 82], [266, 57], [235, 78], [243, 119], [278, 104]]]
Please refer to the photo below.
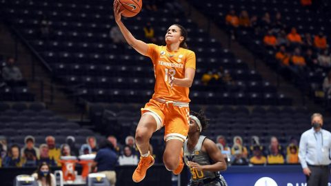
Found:
[[132, 175], [132, 180], [135, 183], [141, 182], [143, 178], [146, 176], [147, 169], [149, 167], [152, 167], [154, 164], [154, 158], [153, 156], [149, 155], [147, 157], [140, 157], [140, 161], [138, 163], [137, 169], [134, 170], [134, 173]]

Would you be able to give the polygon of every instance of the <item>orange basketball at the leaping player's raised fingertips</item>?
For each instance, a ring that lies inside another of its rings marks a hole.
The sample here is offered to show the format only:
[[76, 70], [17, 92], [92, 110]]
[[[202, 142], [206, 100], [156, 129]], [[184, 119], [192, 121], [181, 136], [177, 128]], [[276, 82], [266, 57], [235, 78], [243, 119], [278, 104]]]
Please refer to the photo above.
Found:
[[143, 0], [119, 0], [119, 3], [122, 5], [120, 11], [124, 10], [123, 17], [134, 17], [143, 6]]

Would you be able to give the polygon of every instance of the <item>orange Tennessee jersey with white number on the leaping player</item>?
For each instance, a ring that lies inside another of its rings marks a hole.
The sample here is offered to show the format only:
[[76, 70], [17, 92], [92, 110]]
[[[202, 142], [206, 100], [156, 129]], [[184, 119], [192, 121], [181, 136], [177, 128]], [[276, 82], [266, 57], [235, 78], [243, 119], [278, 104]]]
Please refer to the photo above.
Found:
[[154, 65], [154, 98], [167, 101], [181, 101], [188, 103], [190, 92], [188, 87], [170, 87], [170, 76], [177, 79], [185, 78], [185, 68], [195, 68], [195, 54], [191, 50], [179, 48], [177, 51], [169, 51], [166, 46], [148, 44], [146, 56], [152, 59]]

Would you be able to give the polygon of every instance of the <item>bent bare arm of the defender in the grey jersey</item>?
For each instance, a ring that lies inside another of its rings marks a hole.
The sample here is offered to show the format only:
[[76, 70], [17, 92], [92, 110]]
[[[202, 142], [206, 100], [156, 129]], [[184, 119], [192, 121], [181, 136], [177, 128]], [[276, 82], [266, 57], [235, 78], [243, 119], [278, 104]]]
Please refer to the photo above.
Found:
[[210, 172], [217, 172], [217, 171], [224, 171], [226, 167], [225, 160], [221, 154], [219, 148], [217, 148], [216, 144], [211, 141], [210, 139], [206, 138], [203, 142], [203, 147], [205, 147], [205, 151], [208, 153], [214, 164], [212, 165], [199, 165], [194, 162], [188, 163], [188, 165], [192, 168], [197, 168], [201, 171], [210, 171]]

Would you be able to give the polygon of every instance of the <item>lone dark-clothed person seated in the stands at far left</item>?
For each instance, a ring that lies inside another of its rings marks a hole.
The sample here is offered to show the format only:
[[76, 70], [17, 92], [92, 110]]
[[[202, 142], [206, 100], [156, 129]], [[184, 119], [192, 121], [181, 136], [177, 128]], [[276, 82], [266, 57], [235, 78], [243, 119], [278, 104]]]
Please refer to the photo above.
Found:
[[23, 76], [21, 70], [15, 65], [13, 57], [8, 57], [6, 66], [2, 69], [2, 77], [8, 85], [17, 85], [17, 83], [22, 81]]

